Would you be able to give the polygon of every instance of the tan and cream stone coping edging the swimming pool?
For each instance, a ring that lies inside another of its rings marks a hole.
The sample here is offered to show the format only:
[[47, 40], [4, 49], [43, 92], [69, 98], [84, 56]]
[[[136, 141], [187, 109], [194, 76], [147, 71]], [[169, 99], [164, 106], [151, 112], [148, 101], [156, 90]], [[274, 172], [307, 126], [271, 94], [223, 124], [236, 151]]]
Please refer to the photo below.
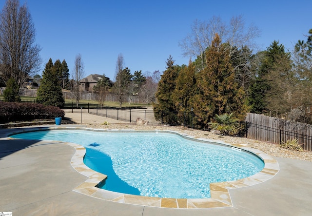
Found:
[[[98, 173], [89, 167], [87, 167], [83, 163], [83, 157], [85, 156], [86, 150], [83, 146], [71, 143], [64, 142], [67, 145], [70, 145], [76, 149], [76, 153], [71, 159], [72, 167], [81, 175], [89, 177], [86, 181], [82, 182], [78, 187], [74, 188], [73, 191], [78, 192], [80, 194], [84, 194], [87, 196], [92, 196], [99, 199], [119, 202], [119, 203], [128, 203], [128, 204], [136, 204], [143, 206], [151, 206], [151, 207], [162, 207], [162, 208], [215, 208], [215, 207], [232, 207], [232, 199], [229, 194], [230, 189], [237, 189], [247, 186], [252, 186], [255, 184], [259, 184], [264, 182], [272, 177], [274, 177], [279, 172], [279, 165], [273, 157], [253, 148], [248, 147], [248, 144], [230, 144], [222, 141], [216, 141], [212, 139], [206, 138], [196, 138], [189, 136], [187, 134], [182, 134], [177, 131], [170, 130], [117, 130], [117, 129], [95, 129], [95, 128], [81, 128], [81, 127], [45, 127], [45, 128], [25, 128], [21, 130], [16, 130], [14, 134], [23, 133], [23, 132], [31, 132], [31, 131], [40, 131], [40, 130], [54, 130], [54, 129], [79, 129], [79, 130], [91, 130], [91, 131], [105, 131], [105, 132], [168, 132], [175, 133], [185, 138], [191, 138], [200, 141], [213, 142], [217, 144], [224, 144], [228, 146], [232, 146], [235, 148], [240, 148], [245, 151], [254, 153], [258, 157], [262, 158], [264, 161], [264, 169], [259, 173], [235, 180], [235, 181], [226, 181], [226, 182], [218, 182], [211, 183], [211, 198], [198, 198], [198, 199], [179, 199], [179, 198], [159, 198], [159, 197], [148, 197], [148, 196], [136, 196], [136, 195], [128, 195], [122, 194], [112, 191], [107, 191], [104, 189], [100, 189], [96, 187], [100, 182], [105, 180], [107, 177], [104, 174]], [[12, 135], [12, 133], [10, 134]], [[8, 136], [10, 136], [8, 135]]]

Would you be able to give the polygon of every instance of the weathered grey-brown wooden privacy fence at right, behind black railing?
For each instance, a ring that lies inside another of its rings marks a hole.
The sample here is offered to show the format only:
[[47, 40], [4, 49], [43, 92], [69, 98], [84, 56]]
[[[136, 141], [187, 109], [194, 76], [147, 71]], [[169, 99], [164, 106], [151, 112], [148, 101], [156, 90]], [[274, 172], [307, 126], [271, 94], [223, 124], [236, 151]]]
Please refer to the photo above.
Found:
[[297, 138], [302, 148], [312, 151], [312, 125], [281, 118], [248, 113], [246, 137], [281, 144]]

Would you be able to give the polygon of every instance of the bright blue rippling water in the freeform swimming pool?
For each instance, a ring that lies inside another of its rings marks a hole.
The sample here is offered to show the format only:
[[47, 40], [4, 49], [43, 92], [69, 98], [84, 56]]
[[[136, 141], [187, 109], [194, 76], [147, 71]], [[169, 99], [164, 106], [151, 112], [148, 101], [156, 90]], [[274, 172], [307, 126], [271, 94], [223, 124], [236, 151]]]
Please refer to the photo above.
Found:
[[100, 187], [141, 196], [208, 198], [210, 183], [264, 167], [253, 154], [172, 133], [49, 130], [11, 137], [78, 143], [86, 148], [84, 163], [108, 176]]

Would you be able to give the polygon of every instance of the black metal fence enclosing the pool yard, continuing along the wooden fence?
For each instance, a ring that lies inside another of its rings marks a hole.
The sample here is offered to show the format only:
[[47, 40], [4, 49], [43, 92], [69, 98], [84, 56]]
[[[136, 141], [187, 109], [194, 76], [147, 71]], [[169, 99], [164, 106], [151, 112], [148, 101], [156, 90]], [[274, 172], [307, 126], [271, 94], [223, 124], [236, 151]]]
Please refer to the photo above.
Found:
[[[36, 102], [36, 100], [22, 100], [22, 102]], [[194, 119], [193, 112], [155, 112], [152, 109], [143, 108], [116, 108], [101, 107], [93, 103], [66, 102], [61, 107], [64, 112], [90, 113], [117, 120], [135, 122], [137, 118], [147, 120], [150, 125], [171, 125], [200, 129]], [[312, 136], [299, 134], [292, 131], [285, 131], [279, 128], [267, 127], [253, 122], [241, 122], [240, 136], [281, 144], [287, 140], [296, 138], [302, 144], [304, 150], [312, 151]]]

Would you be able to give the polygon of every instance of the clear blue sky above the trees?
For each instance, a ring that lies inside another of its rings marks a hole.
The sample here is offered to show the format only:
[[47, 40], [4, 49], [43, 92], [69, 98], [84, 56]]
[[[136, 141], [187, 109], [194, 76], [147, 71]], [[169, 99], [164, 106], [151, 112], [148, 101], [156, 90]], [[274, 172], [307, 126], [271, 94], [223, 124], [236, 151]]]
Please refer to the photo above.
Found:
[[[4, 3], [0, 0], [0, 8]], [[52, 58], [65, 59], [71, 72], [80, 53], [86, 75], [104, 73], [112, 80], [119, 53], [132, 74], [164, 71], [169, 55], [176, 64], [188, 64], [178, 43], [196, 19], [220, 16], [229, 22], [242, 15], [246, 26], [254, 23], [261, 30], [255, 39], [259, 50], [273, 40], [292, 49], [312, 28], [312, 0], [27, 0], [26, 4], [42, 47], [40, 71]]]

